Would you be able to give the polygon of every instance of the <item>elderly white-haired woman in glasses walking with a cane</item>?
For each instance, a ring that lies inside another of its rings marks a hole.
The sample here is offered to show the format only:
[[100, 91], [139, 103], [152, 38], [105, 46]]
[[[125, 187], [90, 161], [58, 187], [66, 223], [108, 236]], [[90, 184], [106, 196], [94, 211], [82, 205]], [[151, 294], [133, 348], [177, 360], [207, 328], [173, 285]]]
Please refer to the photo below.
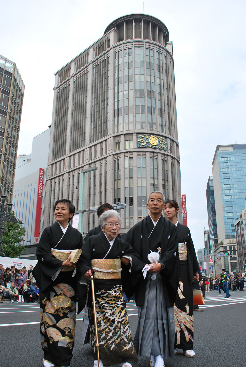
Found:
[[[137, 255], [133, 254], [132, 247], [125, 240], [117, 238], [121, 225], [119, 213], [107, 210], [99, 222], [102, 231], [86, 241], [81, 257], [84, 278], [94, 272], [100, 367], [116, 363], [131, 367], [130, 362], [137, 360], [137, 354], [131, 338], [122, 284], [134, 285], [138, 276], [142, 275], [143, 266]], [[91, 289], [87, 306], [94, 367], [98, 367]]]

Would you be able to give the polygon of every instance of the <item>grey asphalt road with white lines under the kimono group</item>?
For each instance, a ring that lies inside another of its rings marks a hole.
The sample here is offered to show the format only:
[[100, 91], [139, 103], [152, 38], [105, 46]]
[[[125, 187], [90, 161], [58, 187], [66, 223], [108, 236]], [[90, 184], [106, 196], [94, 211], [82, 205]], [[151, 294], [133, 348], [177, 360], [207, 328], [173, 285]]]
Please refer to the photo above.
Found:
[[[218, 291], [206, 293], [203, 312], [194, 312], [195, 358], [182, 353], [165, 360], [166, 367], [246, 367], [246, 290], [231, 291], [230, 298]], [[137, 326], [137, 308], [127, 304], [131, 332]], [[90, 346], [82, 345], [83, 313], [77, 315], [75, 347], [71, 367], [92, 367]], [[41, 367], [43, 354], [39, 337], [38, 304], [0, 304], [1, 367]], [[180, 351], [182, 352], [182, 351]], [[116, 365], [119, 367], [119, 365]], [[139, 357], [133, 367], [149, 367]]]

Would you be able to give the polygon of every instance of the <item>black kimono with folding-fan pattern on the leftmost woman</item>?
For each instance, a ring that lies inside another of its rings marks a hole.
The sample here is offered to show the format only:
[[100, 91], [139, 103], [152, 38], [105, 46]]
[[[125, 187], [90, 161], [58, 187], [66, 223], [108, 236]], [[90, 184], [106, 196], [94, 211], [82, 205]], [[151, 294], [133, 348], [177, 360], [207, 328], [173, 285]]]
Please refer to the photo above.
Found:
[[[82, 234], [70, 224], [63, 233], [58, 222], [44, 229], [36, 250], [38, 263], [32, 270], [40, 290], [40, 334], [44, 359], [55, 366], [70, 366], [75, 337], [78, 269], [62, 271], [55, 250], [75, 250], [83, 245]], [[76, 266], [79, 268], [80, 260]], [[79, 302], [82, 297], [79, 297]]]

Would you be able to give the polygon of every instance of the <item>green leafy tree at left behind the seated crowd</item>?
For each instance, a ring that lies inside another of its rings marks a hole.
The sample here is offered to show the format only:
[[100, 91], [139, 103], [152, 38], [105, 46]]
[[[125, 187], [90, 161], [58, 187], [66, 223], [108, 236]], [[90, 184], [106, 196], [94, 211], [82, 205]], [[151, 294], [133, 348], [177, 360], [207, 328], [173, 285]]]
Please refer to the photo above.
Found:
[[[15, 213], [11, 211], [11, 215], [13, 217], [14, 214]], [[21, 244], [25, 236], [26, 229], [25, 227], [21, 228], [20, 223], [14, 222], [9, 222], [5, 229], [6, 232], [3, 234], [1, 243], [1, 256], [18, 257], [26, 247]]]

